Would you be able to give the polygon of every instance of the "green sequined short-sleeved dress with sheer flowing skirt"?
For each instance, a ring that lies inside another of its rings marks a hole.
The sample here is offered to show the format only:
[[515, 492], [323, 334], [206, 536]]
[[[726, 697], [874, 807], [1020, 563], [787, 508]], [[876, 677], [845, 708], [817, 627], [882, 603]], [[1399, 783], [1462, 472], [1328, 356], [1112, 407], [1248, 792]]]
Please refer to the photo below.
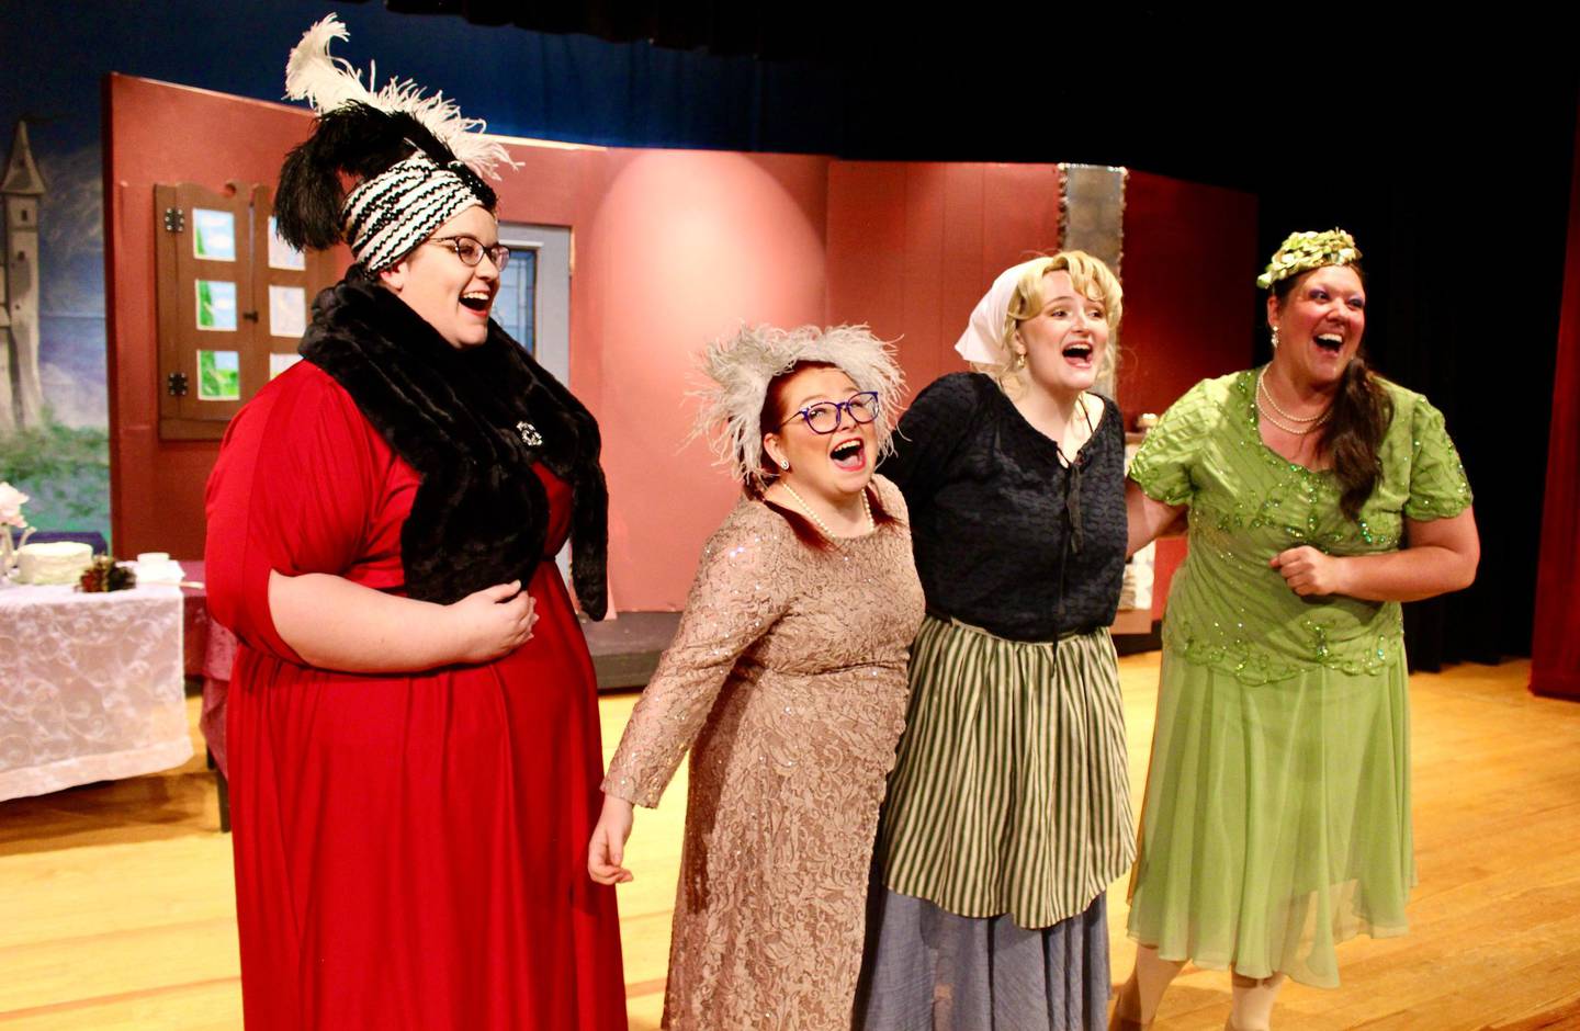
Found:
[[1384, 384], [1394, 420], [1359, 523], [1329, 472], [1262, 444], [1256, 371], [1196, 384], [1130, 477], [1190, 507], [1131, 881], [1130, 936], [1163, 958], [1338, 984], [1334, 946], [1405, 933], [1414, 884], [1397, 602], [1302, 598], [1269, 559], [1392, 551], [1405, 519], [1471, 504], [1443, 414]]

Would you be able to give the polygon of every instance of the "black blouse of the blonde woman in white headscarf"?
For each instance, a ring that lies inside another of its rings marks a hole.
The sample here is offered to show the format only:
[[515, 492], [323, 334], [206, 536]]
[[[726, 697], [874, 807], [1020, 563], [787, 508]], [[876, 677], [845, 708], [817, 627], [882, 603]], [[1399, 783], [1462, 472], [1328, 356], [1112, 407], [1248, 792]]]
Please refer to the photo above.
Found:
[[880, 472], [905, 494], [929, 613], [1016, 641], [1114, 622], [1125, 570], [1117, 404], [1103, 398], [1070, 467], [992, 379], [951, 373], [916, 396], [894, 448]]

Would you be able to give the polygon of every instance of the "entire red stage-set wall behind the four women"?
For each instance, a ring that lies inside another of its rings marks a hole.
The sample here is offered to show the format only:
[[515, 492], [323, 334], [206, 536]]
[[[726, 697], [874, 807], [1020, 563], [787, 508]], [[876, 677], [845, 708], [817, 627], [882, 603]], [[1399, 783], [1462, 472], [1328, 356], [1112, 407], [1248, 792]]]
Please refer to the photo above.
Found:
[[[275, 182], [310, 129], [280, 104], [111, 76], [106, 85], [111, 491], [122, 554], [202, 553], [218, 445], [158, 437], [153, 185]], [[570, 226], [570, 387], [604, 429], [610, 586], [675, 609], [735, 486], [687, 442], [694, 357], [743, 322], [867, 322], [899, 338], [912, 392], [1005, 267], [1059, 243], [1051, 164], [848, 163], [512, 144], [507, 221]], [[1127, 414], [1242, 368], [1255, 199], [1133, 174], [1125, 216]]]

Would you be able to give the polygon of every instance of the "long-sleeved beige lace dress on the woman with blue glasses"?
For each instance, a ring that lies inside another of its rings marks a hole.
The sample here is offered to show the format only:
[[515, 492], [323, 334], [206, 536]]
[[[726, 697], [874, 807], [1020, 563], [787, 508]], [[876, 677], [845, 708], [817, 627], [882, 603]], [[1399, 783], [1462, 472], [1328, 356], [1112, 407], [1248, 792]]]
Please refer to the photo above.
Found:
[[692, 750], [667, 1028], [850, 1028], [923, 616], [905, 502], [874, 485], [901, 521], [826, 551], [735, 507], [610, 763], [604, 791], [651, 807]]

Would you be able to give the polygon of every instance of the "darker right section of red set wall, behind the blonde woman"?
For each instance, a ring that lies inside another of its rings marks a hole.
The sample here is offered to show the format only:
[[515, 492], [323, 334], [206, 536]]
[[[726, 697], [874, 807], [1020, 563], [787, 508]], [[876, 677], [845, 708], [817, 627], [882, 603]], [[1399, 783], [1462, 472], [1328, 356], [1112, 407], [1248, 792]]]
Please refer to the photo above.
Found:
[[[836, 161], [828, 308], [899, 338], [915, 393], [964, 368], [953, 347], [1010, 265], [1059, 248], [1052, 164]], [[1131, 172], [1125, 188], [1119, 401], [1163, 412], [1198, 379], [1251, 358], [1256, 199]]]

